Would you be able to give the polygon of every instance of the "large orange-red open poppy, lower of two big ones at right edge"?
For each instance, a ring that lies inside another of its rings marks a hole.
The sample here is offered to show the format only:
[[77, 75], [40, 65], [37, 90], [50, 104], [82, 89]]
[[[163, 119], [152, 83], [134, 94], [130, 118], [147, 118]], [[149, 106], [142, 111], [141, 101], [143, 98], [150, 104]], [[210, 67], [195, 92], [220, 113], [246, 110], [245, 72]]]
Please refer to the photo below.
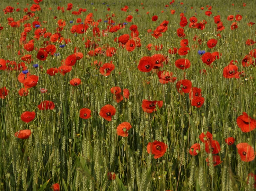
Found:
[[254, 160], [255, 152], [253, 150], [253, 147], [251, 147], [251, 145], [249, 145], [248, 143], [237, 144], [237, 149], [237, 152], [240, 155], [242, 161], [250, 162]]

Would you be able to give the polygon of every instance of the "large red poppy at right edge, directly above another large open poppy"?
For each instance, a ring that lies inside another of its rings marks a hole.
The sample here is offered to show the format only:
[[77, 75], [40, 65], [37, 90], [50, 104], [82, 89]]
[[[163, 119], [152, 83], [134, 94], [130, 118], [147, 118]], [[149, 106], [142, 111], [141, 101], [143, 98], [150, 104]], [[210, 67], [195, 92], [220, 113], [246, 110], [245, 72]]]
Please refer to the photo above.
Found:
[[246, 112], [243, 112], [243, 114], [237, 118], [237, 125], [241, 128], [242, 132], [247, 133], [256, 128], [256, 120], [251, 118]]

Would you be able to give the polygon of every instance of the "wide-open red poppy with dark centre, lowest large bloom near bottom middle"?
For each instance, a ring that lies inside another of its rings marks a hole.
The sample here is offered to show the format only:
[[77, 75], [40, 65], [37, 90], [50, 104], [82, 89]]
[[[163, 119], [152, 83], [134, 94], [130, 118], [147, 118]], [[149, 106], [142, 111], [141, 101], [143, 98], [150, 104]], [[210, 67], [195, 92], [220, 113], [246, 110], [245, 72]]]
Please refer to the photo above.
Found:
[[167, 145], [160, 141], [149, 142], [147, 145], [147, 151], [150, 154], [154, 154], [154, 159], [162, 157], [167, 149]]

